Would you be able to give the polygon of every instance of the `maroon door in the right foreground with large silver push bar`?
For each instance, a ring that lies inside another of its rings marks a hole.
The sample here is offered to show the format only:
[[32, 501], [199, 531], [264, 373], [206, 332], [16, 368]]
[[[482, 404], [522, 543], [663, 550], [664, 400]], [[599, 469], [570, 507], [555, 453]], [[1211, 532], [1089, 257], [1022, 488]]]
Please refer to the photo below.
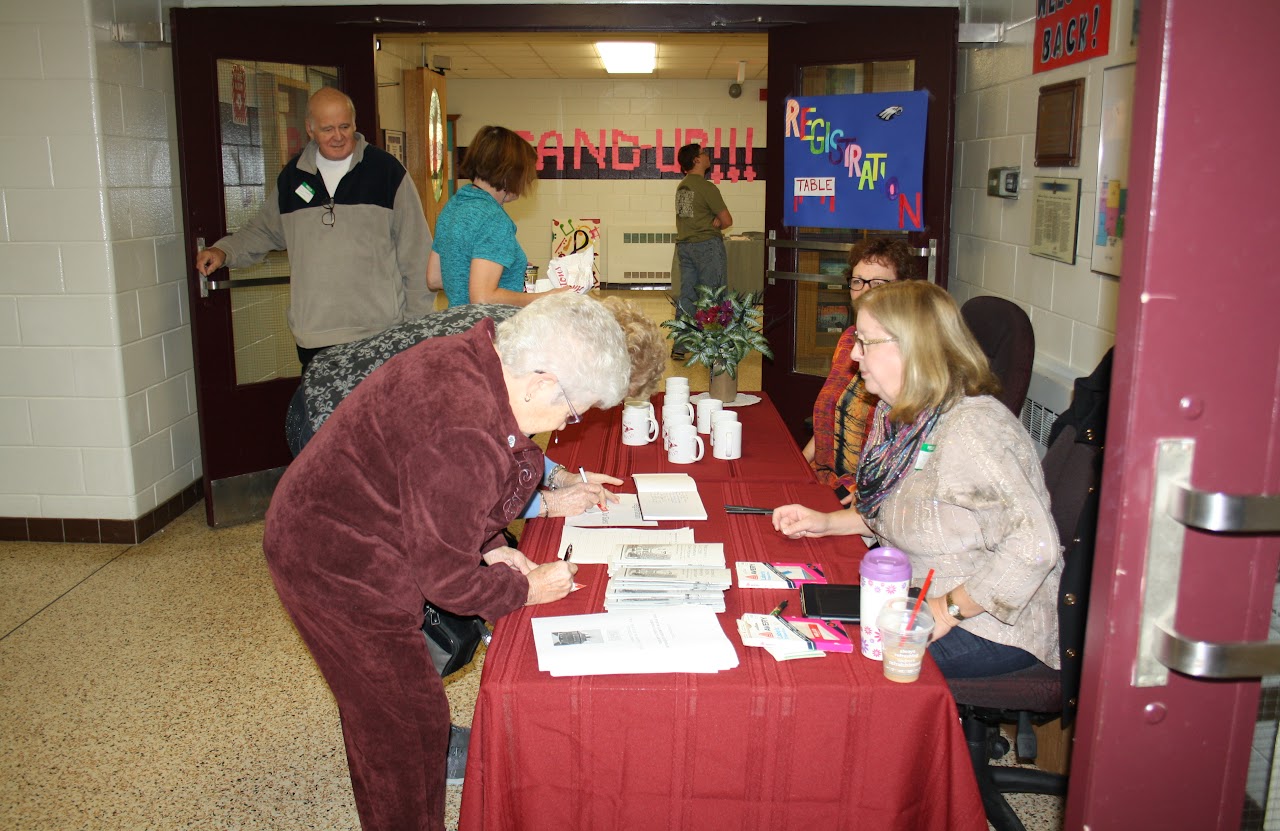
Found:
[[[1280, 560], [1276, 32], [1280, 4], [1142, 4], [1068, 828], [1242, 827], [1257, 676], [1280, 644], [1215, 644], [1266, 640]], [[1188, 485], [1271, 498], [1206, 513], [1176, 498]]]

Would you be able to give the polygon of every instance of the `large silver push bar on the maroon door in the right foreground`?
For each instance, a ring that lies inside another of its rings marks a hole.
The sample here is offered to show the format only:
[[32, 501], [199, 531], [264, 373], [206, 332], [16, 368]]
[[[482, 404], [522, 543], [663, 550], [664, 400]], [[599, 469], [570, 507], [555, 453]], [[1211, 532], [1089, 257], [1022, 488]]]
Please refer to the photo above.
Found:
[[1280, 675], [1277, 641], [1212, 643], [1174, 629], [1188, 528], [1229, 534], [1280, 533], [1280, 496], [1197, 490], [1188, 484], [1194, 457], [1194, 439], [1161, 439], [1156, 444], [1135, 686], [1165, 686], [1169, 670], [1199, 679]]

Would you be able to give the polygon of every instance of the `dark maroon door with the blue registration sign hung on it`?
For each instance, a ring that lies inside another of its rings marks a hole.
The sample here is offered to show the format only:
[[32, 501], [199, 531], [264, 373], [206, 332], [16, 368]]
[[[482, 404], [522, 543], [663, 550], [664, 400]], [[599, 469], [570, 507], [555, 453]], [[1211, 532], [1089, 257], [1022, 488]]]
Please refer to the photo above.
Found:
[[[831, 367], [831, 352], [841, 329], [824, 324], [820, 310], [849, 303], [847, 287], [833, 273], [846, 259], [849, 241], [863, 233], [877, 236], [884, 229], [808, 232], [782, 225], [787, 192], [782, 163], [787, 97], [929, 91], [924, 230], [908, 233], [906, 239], [908, 245], [925, 252], [919, 262], [922, 274], [942, 286], [946, 286], [950, 247], [957, 12], [865, 6], [841, 12], [847, 19], [769, 31], [764, 227], [776, 242], [787, 247], [769, 248], [764, 328], [773, 360], [764, 361], [762, 385], [801, 446], [809, 440], [812, 432], [805, 419], [813, 412], [813, 401]], [[809, 241], [804, 242], [806, 250], [790, 247], [799, 241]], [[832, 279], [820, 279], [817, 274], [828, 274]]]

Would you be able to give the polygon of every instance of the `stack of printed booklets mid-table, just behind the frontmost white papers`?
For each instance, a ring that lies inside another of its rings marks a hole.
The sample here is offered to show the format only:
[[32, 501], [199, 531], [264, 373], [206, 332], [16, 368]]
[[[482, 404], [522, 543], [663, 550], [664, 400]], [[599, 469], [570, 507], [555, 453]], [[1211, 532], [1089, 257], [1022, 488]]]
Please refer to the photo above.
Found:
[[623, 544], [609, 558], [604, 608], [687, 604], [723, 612], [731, 584], [721, 543]]

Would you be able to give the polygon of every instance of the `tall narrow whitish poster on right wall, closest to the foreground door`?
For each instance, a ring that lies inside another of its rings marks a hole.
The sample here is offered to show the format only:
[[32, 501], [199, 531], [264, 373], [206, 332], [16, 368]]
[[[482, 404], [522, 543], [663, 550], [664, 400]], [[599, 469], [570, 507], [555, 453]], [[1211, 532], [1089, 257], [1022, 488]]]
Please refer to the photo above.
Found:
[[1102, 127], [1098, 134], [1098, 225], [1091, 269], [1120, 277], [1124, 220], [1129, 201], [1129, 127], [1133, 115], [1133, 64], [1102, 73]]

